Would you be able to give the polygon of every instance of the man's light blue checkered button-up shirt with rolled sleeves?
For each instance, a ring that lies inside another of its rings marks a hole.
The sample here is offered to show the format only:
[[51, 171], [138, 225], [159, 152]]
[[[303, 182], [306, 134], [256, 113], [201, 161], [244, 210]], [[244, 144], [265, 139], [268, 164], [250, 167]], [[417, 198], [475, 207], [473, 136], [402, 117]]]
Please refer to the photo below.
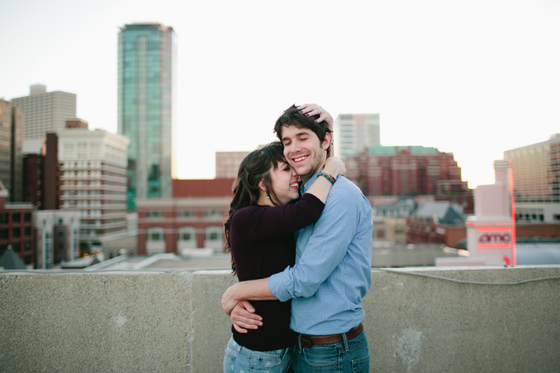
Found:
[[[302, 192], [317, 177], [302, 185]], [[356, 185], [339, 176], [321, 218], [296, 232], [295, 266], [268, 280], [279, 300], [293, 298], [292, 330], [332, 335], [363, 321], [360, 303], [372, 283], [372, 231], [370, 202]]]

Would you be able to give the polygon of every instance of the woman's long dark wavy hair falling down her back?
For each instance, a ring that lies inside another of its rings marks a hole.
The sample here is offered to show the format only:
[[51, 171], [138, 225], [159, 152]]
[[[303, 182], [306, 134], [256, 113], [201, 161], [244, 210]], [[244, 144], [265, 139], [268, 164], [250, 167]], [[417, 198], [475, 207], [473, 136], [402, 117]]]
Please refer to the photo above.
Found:
[[[237, 180], [233, 183], [233, 198], [230, 204], [230, 213], [228, 219], [223, 224], [225, 232], [226, 251], [231, 252], [230, 243], [230, 218], [237, 210], [247, 206], [257, 206], [260, 197], [259, 183], [262, 180], [265, 189], [270, 196], [270, 201], [274, 205], [279, 205], [278, 198], [272, 190], [272, 181], [270, 180], [270, 169], [276, 169], [278, 162], [285, 162], [283, 156], [283, 147], [280, 141], [269, 143], [258, 150], [249, 153], [237, 171]], [[232, 254], [232, 273], [235, 274], [235, 262]]]

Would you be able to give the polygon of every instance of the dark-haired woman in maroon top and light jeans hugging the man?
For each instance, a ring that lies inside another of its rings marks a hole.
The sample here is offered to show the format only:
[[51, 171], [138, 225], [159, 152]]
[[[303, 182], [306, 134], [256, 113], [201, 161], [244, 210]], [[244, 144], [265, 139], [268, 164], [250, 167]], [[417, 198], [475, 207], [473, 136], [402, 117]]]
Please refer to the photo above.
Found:
[[[247, 155], [239, 165], [229, 218], [224, 225], [232, 269], [239, 281], [266, 278], [294, 265], [293, 232], [318, 220], [332, 183], [346, 171], [337, 158], [328, 158], [320, 174], [323, 177], [318, 177], [303, 197], [290, 204], [299, 195], [298, 177], [282, 151], [280, 142], [269, 143]], [[232, 327], [224, 372], [249, 373], [263, 368], [271, 373], [286, 372], [295, 340], [290, 330], [290, 302], [251, 304], [255, 314], [262, 316], [262, 325], [256, 330]]]

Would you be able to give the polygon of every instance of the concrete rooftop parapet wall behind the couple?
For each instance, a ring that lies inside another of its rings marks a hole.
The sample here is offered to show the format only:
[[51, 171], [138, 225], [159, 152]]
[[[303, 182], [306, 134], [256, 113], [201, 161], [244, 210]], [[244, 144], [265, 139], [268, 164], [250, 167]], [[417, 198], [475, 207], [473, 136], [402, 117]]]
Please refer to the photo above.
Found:
[[[467, 281], [560, 266], [416, 268]], [[0, 272], [2, 372], [221, 372], [228, 271]], [[558, 372], [560, 279], [488, 286], [373, 272], [371, 372]]]

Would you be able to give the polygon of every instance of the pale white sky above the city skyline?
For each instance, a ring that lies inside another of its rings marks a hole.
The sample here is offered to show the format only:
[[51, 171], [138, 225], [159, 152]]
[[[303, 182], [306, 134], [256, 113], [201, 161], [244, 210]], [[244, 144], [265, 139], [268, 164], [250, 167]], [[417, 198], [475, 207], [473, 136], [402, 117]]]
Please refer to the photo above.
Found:
[[[0, 0], [0, 98], [78, 95], [117, 131], [119, 27], [160, 22], [178, 47], [179, 178], [215, 152], [274, 141], [291, 104], [379, 113], [381, 145], [454, 153], [470, 188], [503, 151], [560, 132], [560, 1]], [[335, 138], [336, 140], [336, 138]]]

